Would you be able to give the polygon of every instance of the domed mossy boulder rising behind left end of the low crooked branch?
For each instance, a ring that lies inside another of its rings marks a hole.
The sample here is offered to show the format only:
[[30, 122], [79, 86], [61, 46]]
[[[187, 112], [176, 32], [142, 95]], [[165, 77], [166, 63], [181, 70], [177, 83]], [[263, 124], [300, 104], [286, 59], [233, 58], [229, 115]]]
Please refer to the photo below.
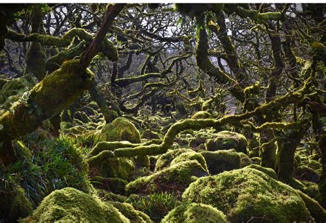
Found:
[[105, 141], [129, 141], [131, 143], [141, 143], [140, 133], [126, 118], [118, 117], [102, 128], [102, 137]]

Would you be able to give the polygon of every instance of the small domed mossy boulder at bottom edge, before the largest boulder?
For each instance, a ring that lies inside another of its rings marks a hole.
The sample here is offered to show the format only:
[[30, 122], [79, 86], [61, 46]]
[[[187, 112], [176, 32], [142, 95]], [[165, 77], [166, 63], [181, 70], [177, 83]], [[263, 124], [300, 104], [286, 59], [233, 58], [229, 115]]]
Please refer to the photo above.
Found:
[[172, 211], [162, 220], [162, 223], [189, 222], [189, 223], [206, 223], [206, 222], [228, 222], [226, 215], [208, 204], [182, 204]]

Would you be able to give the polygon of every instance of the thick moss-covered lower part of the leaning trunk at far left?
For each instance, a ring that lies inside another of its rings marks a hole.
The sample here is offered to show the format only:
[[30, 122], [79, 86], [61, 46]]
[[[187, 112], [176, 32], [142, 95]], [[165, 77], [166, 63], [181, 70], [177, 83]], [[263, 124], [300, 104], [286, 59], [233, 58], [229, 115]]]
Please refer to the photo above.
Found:
[[58, 115], [61, 110], [72, 104], [83, 91], [91, 87], [94, 74], [81, 68], [79, 60], [65, 62], [61, 69], [47, 75], [30, 91], [30, 96], [0, 117], [0, 163], [14, 159], [10, 141], [23, 134], [32, 132], [45, 119]]

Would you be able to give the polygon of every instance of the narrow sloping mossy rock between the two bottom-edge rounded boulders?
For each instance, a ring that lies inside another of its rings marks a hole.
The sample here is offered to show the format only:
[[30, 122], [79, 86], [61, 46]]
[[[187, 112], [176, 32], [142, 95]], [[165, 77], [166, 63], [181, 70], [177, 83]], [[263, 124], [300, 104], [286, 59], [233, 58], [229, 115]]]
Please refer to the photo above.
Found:
[[130, 222], [135, 223], [150, 223], [153, 222], [151, 218], [149, 218], [146, 213], [142, 213], [141, 211], [135, 210], [131, 204], [125, 202], [114, 202], [111, 201], [109, 204], [112, 204], [113, 207], [118, 209], [122, 215], [130, 220]]

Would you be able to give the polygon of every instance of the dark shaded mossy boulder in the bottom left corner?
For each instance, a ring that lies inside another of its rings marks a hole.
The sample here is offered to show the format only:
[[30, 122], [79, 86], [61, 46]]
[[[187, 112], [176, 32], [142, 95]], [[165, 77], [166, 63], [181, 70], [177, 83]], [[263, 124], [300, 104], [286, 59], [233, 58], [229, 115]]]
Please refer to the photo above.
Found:
[[0, 219], [7, 218], [10, 222], [16, 222], [33, 211], [25, 191], [19, 186], [14, 187], [12, 191], [1, 191], [0, 197]]

